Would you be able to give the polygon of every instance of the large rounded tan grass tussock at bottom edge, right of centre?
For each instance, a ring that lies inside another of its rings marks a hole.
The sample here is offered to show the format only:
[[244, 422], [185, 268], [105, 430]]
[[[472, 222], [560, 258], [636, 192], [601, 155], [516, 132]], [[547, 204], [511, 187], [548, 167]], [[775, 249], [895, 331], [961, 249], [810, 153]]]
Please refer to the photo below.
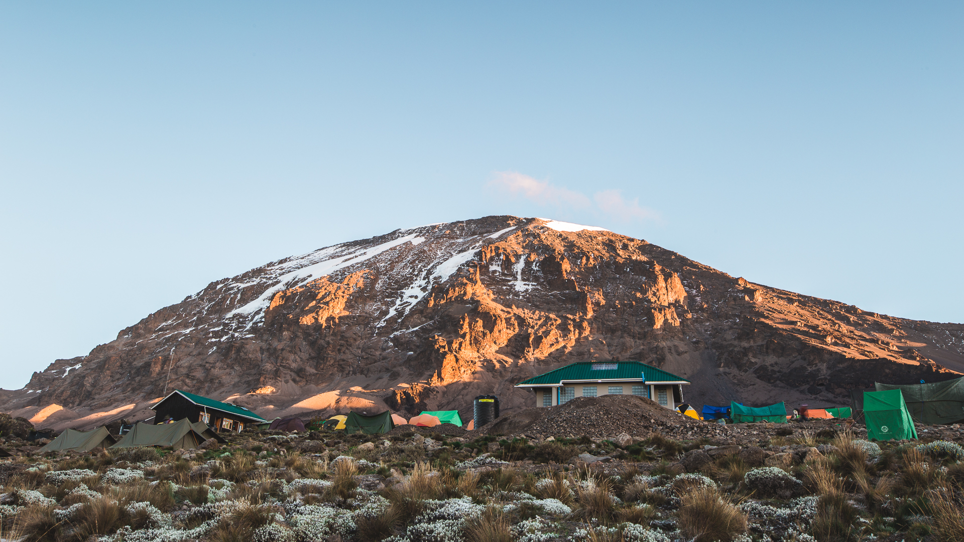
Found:
[[678, 526], [693, 542], [732, 542], [746, 532], [746, 515], [713, 487], [694, 487], [680, 498]]

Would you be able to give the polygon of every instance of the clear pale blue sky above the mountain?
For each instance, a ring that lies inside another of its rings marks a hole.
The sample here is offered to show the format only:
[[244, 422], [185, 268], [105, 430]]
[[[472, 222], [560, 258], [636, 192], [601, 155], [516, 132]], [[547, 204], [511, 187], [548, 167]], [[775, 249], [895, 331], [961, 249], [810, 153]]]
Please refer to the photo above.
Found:
[[207, 283], [549, 216], [964, 321], [959, 2], [0, 3], [0, 386]]

